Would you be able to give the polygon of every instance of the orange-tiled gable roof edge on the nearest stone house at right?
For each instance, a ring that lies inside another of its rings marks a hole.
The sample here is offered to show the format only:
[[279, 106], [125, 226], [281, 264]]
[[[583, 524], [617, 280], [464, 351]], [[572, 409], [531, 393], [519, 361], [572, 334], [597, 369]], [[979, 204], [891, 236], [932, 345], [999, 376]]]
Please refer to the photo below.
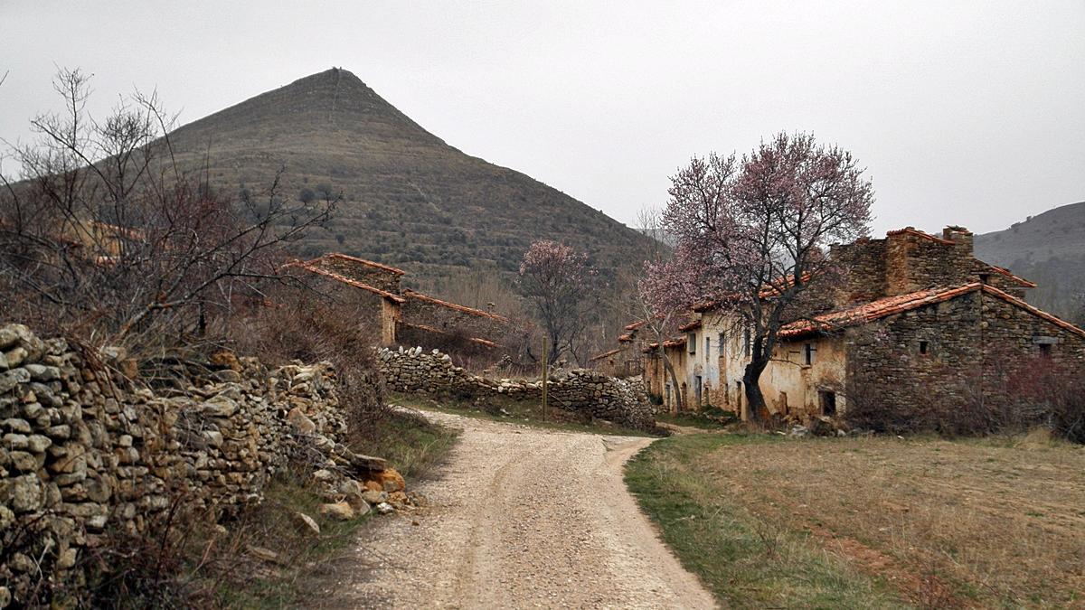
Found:
[[909, 292], [907, 294], [898, 294], [896, 296], [886, 296], [884, 298], [879, 298], [877, 301], [871, 301], [870, 303], [864, 303], [857, 307], [851, 309], [844, 309], [841, 312], [832, 312], [829, 314], [824, 314], [821, 316], [815, 316], [809, 320], [799, 320], [791, 322], [780, 329], [780, 338], [782, 339], [795, 339], [814, 332], [828, 332], [833, 330], [839, 330], [842, 328], [863, 325], [869, 321], [873, 321], [880, 318], [892, 316], [894, 314], [901, 314], [908, 312], [910, 309], [916, 309], [918, 307], [923, 307], [926, 305], [931, 305], [934, 303], [943, 303], [955, 298], [962, 294], [968, 294], [970, 292], [983, 291], [987, 294], [994, 295], [1007, 303], [1010, 303], [1017, 307], [1025, 309], [1030, 314], [1041, 317], [1064, 330], [1085, 336], [1085, 330], [1082, 330], [1074, 325], [1057, 318], [1046, 312], [1037, 309], [1032, 305], [1029, 305], [1024, 301], [1007, 294], [997, 288], [987, 285], [980, 282], [967, 283], [954, 288], [941, 288], [941, 289], [929, 289], [920, 290], [917, 292]]

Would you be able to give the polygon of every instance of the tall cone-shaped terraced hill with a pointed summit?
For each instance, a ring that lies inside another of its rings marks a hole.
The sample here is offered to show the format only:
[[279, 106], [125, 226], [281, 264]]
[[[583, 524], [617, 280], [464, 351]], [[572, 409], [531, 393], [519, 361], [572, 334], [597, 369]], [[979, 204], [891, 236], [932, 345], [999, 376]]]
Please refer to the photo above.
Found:
[[332, 68], [219, 111], [173, 134], [181, 167], [224, 190], [330, 187], [344, 202], [331, 230], [299, 244], [391, 263], [414, 276], [467, 268], [511, 275], [535, 239], [587, 251], [607, 276], [639, 269], [649, 239], [519, 171], [430, 134], [354, 74]]

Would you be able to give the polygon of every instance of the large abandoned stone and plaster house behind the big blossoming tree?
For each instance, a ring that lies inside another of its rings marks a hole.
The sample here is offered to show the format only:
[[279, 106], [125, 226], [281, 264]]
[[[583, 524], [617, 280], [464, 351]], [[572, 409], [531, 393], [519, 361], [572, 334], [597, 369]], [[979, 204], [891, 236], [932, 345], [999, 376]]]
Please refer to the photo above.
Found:
[[[1035, 284], [974, 258], [965, 228], [937, 237], [908, 227], [833, 245], [830, 256], [845, 263], [844, 285], [834, 287], [827, 310], [781, 329], [761, 378], [763, 415], [842, 414], [857, 399], [960, 401], [1030, 358], [1085, 372], [1085, 330], [1025, 303]], [[749, 331], [714, 303], [694, 307], [688, 320], [664, 342], [682, 404], [654, 343], [641, 347], [649, 391], [672, 409], [711, 404], [745, 419]]]

